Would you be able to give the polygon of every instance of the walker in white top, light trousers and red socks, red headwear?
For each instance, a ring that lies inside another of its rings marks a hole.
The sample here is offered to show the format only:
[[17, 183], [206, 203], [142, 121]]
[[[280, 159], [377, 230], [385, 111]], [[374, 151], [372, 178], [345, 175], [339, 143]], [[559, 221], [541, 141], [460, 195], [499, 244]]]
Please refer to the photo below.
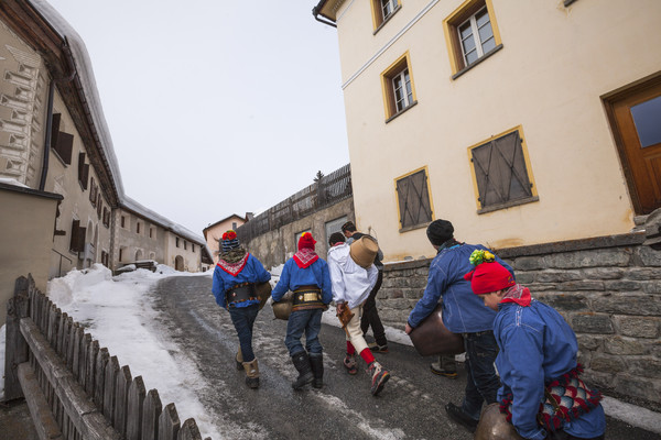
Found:
[[[366, 239], [364, 239], [366, 240]], [[377, 396], [390, 378], [390, 373], [375, 360], [370, 349], [365, 342], [360, 329], [360, 315], [362, 305], [375, 287], [378, 270], [370, 264], [367, 270], [359, 266], [349, 254], [349, 245], [345, 243], [345, 237], [335, 232], [328, 240], [328, 267], [330, 270], [330, 282], [333, 283], [333, 299], [336, 304], [336, 312], [342, 315], [344, 308], [348, 308], [354, 315], [346, 324], [347, 355], [343, 363], [349, 374], [358, 372], [356, 353], [367, 364], [367, 373], [370, 375], [370, 393]]]

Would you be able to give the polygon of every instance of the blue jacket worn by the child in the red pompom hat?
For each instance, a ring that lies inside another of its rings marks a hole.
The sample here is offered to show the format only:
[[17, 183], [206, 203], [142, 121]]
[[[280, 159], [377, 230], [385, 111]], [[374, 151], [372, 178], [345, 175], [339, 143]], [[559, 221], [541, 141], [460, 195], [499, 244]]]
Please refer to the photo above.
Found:
[[[576, 367], [578, 343], [572, 328], [551, 306], [532, 300], [523, 307], [501, 302], [494, 321], [494, 336], [500, 348], [496, 366], [502, 386], [498, 400], [511, 394], [512, 425], [527, 439], [542, 440], [546, 431], [537, 422], [544, 385]], [[565, 422], [564, 431], [578, 438], [604, 433], [606, 418], [602, 405]]]

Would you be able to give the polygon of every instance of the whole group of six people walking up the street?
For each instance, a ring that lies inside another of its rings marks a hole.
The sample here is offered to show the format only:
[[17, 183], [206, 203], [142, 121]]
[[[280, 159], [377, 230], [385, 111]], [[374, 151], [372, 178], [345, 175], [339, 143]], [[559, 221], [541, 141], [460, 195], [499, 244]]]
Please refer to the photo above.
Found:
[[[332, 300], [338, 316], [353, 314], [345, 326], [347, 354], [343, 363], [347, 372], [357, 373], [358, 354], [368, 366], [372, 395], [378, 395], [390, 377], [371, 353], [388, 351], [380, 320], [371, 324], [376, 339], [372, 350], [365, 341], [369, 316], [378, 318], [375, 297], [382, 268], [375, 264], [361, 267], [351, 258], [346, 238], [357, 239], [356, 234], [360, 233], [351, 222], [343, 226], [343, 233], [332, 234], [325, 262], [314, 252], [313, 237], [304, 233], [273, 288], [274, 301], [288, 290], [294, 293], [285, 345], [299, 372], [292, 384], [296, 389], [310, 383], [323, 386], [318, 333], [322, 312]], [[475, 431], [480, 415], [486, 413], [484, 404], [496, 405], [521, 438], [604, 439], [606, 420], [600, 394], [581, 378], [576, 336], [562, 316], [532, 298], [530, 290], [516, 282], [512, 267], [489, 249], [456, 240], [449, 221], [431, 222], [426, 234], [436, 256], [423, 296], [409, 315], [405, 332], [415, 331], [441, 302], [445, 327], [463, 337], [465, 396], [460, 405], [446, 404], [448, 417]], [[379, 256], [376, 260], [380, 262]], [[259, 385], [251, 348], [259, 299], [245, 292], [250, 290], [250, 283], [269, 278], [261, 263], [239, 246], [234, 231], [224, 234], [213, 292], [217, 304], [230, 312], [240, 342], [237, 366], [246, 370], [246, 382], [251, 387]], [[370, 306], [375, 312], [368, 311]], [[303, 333], [305, 346], [301, 343]], [[452, 359], [441, 358], [432, 370], [455, 377], [452, 363]]]

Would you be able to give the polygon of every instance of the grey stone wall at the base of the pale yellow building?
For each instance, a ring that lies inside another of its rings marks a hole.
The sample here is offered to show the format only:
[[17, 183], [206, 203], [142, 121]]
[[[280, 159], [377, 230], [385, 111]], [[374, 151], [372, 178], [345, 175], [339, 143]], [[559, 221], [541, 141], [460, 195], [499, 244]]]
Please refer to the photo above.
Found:
[[[661, 252], [644, 234], [497, 251], [534, 298], [576, 332], [586, 377], [604, 393], [661, 409]], [[426, 285], [430, 260], [388, 264], [378, 295], [384, 323], [402, 329]]]

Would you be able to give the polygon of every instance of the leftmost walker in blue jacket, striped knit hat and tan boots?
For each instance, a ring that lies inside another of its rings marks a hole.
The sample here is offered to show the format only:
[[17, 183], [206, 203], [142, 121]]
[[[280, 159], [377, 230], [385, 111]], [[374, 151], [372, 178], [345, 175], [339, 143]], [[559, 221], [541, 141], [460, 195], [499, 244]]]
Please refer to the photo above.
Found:
[[246, 384], [259, 387], [259, 366], [252, 351], [252, 327], [259, 311], [256, 284], [271, 279], [264, 266], [239, 244], [237, 233], [229, 230], [220, 240], [218, 263], [214, 270], [212, 292], [216, 304], [229, 311], [239, 337], [237, 370], [246, 371]]

